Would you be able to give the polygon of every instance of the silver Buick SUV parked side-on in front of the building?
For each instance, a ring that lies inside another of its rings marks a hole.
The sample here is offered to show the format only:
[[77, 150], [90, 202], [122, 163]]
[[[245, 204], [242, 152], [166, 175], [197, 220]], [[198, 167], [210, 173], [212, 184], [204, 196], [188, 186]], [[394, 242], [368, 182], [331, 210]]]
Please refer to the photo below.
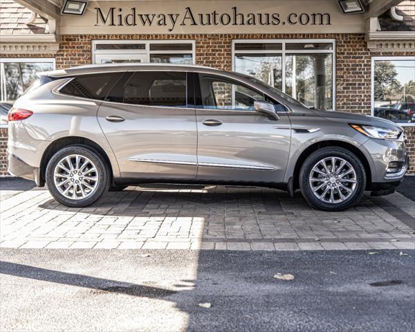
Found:
[[118, 64], [40, 73], [8, 114], [9, 172], [64, 205], [140, 183], [302, 191], [344, 210], [393, 192], [407, 169], [393, 122], [317, 111], [247, 75]]

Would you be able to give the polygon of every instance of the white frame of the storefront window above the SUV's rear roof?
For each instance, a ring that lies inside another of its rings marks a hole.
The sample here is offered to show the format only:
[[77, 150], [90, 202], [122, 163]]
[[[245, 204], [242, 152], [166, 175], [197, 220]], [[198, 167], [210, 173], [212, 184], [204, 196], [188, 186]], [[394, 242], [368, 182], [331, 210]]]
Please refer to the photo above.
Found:
[[[97, 50], [98, 44], [145, 44], [143, 50]], [[150, 50], [150, 44], [191, 44], [192, 50]], [[151, 54], [191, 54], [192, 64], [196, 64], [196, 42], [189, 39], [169, 39], [169, 40], [109, 40], [109, 39], [95, 39], [92, 41], [92, 62], [95, 64], [95, 55], [146, 55], [146, 62], [150, 62]]]

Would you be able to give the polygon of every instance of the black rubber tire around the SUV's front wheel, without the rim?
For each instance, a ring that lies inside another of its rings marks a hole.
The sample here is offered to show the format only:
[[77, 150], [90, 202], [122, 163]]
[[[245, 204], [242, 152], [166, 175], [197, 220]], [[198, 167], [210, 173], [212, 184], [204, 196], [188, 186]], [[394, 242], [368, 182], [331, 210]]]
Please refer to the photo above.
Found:
[[[347, 197], [347, 199], [344, 199], [344, 201], [340, 203], [326, 203], [318, 199], [315, 194], [313, 194], [313, 190], [311, 189], [311, 185], [309, 183], [309, 177], [313, 167], [320, 160], [328, 157], [338, 157], [346, 160], [350, 163], [356, 172], [356, 187], [354, 188], [354, 192], [352, 192], [350, 196]], [[363, 167], [362, 162], [359, 160], [359, 158], [348, 149], [344, 149], [342, 147], [323, 147], [322, 149], [314, 151], [310, 156], [306, 158], [306, 160], [304, 160], [304, 163], [299, 172], [299, 187], [301, 189], [302, 195], [304, 196], [304, 199], [306, 199], [307, 203], [313, 208], [324, 211], [346, 210], [358, 203], [358, 201], [360, 201], [362, 198], [363, 193], [365, 192], [365, 167]]]

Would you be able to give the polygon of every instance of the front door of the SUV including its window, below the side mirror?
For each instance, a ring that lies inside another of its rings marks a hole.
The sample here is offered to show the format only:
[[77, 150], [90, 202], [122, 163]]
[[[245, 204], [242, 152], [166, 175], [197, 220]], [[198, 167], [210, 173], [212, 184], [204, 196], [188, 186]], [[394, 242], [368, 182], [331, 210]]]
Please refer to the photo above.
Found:
[[197, 178], [282, 182], [291, 143], [286, 113], [275, 120], [256, 112], [255, 100], [266, 96], [227, 77], [199, 73], [195, 86], [200, 91]]

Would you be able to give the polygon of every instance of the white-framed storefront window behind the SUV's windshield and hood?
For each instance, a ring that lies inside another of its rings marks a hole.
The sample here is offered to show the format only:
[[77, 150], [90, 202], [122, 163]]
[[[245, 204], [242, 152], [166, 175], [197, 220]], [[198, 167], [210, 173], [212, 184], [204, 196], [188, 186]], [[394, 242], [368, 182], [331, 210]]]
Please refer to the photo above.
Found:
[[234, 71], [251, 75], [308, 107], [334, 109], [334, 42], [234, 41]]

